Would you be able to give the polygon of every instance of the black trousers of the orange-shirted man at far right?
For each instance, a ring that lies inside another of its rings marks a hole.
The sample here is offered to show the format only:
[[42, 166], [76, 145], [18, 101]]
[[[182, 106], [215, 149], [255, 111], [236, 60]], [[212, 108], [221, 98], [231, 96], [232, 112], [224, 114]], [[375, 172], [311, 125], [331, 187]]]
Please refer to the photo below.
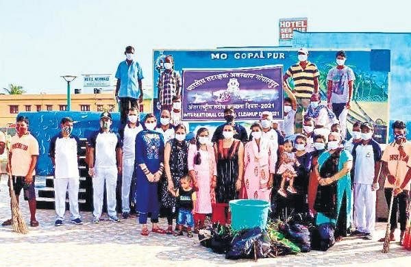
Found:
[[[390, 207], [391, 201], [391, 194], [393, 193], [392, 188], [386, 188], [384, 190], [386, 200], [388, 203], [388, 207]], [[407, 227], [407, 219], [410, 214], [408, 214], [408, 204], [410, 203], [410, 192], [408, 190], [403, 190], [397, 196], [394, 196], [393, 200], [393, 211], [391, 212], [390, 224], [391, 230], [397, 229], [398, 224], [398, 216], [397, 212], [399, 212], [399, 227], [401, 231], [406, 231]]]

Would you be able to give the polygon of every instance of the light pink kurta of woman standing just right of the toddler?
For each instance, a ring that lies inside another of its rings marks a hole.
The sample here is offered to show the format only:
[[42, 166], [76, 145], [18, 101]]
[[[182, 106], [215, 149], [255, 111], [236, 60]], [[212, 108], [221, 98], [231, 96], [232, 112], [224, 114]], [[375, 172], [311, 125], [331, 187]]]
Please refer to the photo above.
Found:
[[188, 170], [194, 170], [197, 179], [196, 211], [199, 214], [210, 214], [212, 212], [211, 204], [216, 202], [216, 196], [212, 185], [212, 177], [217, 174], [216, 159], [214, 148], [207, 146], [207, 151], [199, 150], [201, 155], [201, 164], [195, 165], [194, 158], [197, 155], [197, 146], [190, 144], [188, 147]]

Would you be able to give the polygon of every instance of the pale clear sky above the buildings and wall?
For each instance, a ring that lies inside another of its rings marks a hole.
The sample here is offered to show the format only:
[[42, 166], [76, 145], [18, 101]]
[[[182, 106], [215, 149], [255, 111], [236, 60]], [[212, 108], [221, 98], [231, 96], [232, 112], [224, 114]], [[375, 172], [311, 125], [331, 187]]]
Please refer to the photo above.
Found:
[[[308, 17], [308, 31], [411, 32], [410, 7], [397, 0], [0, 0], [0, 88], [64, 93], [61, 75], [114, 74], [127, 45], [136, 48], [143, 84], [152, 85], [153, 49], [275, 46], [278, 19], [292, 17]], [[79, 77], [72, 88], [82, 84]]]

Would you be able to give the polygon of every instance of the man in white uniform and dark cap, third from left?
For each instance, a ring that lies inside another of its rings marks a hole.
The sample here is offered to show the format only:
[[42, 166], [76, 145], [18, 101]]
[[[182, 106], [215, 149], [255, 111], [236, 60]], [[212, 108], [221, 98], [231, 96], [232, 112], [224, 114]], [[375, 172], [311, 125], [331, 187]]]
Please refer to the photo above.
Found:
[[110, 131], [112, 116], [103, 112], [100, 116], [100, 131], [88, 140], [88, 174], [92, 177], [94, 218], [93, 223], [100, 223], [103, 210], [104, 183], [107, 194], [108, 218], [119, 222], [116, 213], [117, 175], [121, 174], [122, 150], [119, 133]]

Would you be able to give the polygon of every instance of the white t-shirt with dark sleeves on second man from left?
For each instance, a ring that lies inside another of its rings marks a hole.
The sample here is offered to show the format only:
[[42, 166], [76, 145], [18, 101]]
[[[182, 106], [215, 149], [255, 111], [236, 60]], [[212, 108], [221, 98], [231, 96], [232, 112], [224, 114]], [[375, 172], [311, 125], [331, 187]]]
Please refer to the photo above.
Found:
[[79, 140], [73, 136], [57, 136], [51, 140], [55, 162], [54, 177], [79, 178], [79, 164], [77, 162], [77, 151], [79, 151]]

